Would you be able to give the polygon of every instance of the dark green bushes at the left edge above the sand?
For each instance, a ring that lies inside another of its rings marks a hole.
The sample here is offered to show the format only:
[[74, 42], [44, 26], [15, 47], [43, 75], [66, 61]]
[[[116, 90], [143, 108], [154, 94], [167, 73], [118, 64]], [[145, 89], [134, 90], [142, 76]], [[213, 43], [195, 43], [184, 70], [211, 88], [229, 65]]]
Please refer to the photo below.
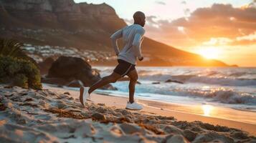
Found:
[[0, 83], [42, 89], [39, 69], [15, 40], [0, 39]]

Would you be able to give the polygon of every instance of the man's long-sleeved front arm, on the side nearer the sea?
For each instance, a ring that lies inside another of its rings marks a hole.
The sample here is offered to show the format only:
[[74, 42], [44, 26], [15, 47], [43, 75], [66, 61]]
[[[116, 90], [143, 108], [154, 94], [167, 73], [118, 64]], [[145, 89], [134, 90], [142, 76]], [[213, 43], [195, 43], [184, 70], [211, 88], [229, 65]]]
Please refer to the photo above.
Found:
[[143, 59], [143, 56], [141, 54], [141, 42], [143, 41], [143, 35], [145, 34], [145, 30], [138, 30], [134, 36], [133, 39], [133, 48], [135, 49], [135, 54], [138, 57], [138, 59], [141, 61]]

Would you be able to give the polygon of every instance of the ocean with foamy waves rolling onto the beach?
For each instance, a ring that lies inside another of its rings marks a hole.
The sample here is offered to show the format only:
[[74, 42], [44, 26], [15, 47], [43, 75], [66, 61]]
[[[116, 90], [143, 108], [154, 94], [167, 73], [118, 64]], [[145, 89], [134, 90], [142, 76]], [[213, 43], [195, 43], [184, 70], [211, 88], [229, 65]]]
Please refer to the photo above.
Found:
[[[113, 66], [93, 68], [100, 70], [101, 77], [114, 69]], [[181, 105], [182, 108], [175, 108], [179, 112], [256, 124], [256, 68], [137, 66], [136, 69], [141, 82], [136, 84], [136, 99]], [[115, 82], [113, 86], [118, 90], [95, 92], [128, 97], [128, 81]]]

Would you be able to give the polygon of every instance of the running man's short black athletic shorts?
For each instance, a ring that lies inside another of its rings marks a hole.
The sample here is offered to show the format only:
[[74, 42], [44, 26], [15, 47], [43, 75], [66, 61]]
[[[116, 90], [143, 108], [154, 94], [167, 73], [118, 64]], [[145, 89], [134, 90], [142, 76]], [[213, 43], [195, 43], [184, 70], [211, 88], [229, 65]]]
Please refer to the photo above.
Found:
[[135, 69], [135, 64], [131, 64], [123, 59], [118, 59], [118, 65], [115, 67], [114, 72], [120, 74], [121, 77], [127, 75], [130, 71]]

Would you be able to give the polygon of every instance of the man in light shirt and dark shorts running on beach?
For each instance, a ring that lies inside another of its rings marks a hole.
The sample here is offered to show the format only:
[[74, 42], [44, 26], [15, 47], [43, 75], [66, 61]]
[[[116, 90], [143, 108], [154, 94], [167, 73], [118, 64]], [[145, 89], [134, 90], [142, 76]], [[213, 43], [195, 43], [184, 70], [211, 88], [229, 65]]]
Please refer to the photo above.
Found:
[[[82, 105], [85, 104], [90, 94], [103, 87], [106, 84], [114, 83], [121, 77], [127, 75], [130, 78], [129, 83], [129, 102], [126, 104], [126, 109], [143, 109], [141, 104], [134, 101], [135, 86], [138, 79], [138, 74], [135, 69], [136, 59], [139, 61], [143, 60], [141, 54], [141, 43], [144, 39], [145, 29], [143, 26], [146, 22], [145, 14], [141, 11], [136, 11], [133, 14], [134, 24], [130, 26], [125, 26], [123, 29], [116, 31], [110, 36], [113, 48], [115, 50], [116, 56], [118, 56], [118, 65], [115, 67], [112, 74], [107, 77], [103, 77], [100, 81], [93, 84], [91, 87], [81, 87], [80, 88], [80, 102]], [[119, 51], [117, 41], [122, 38], [124, 47]]]

